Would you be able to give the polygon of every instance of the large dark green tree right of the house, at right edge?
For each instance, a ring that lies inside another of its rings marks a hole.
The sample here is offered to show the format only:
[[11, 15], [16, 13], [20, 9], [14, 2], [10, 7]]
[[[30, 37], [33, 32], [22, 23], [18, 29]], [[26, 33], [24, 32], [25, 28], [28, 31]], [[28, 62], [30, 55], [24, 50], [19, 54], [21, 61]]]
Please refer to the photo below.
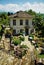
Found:
[[40, 36], [44, 37], [44, 18], [41, 15], [36, 15], [33, 19], [33, 26], [35, 30], [40, 34]]

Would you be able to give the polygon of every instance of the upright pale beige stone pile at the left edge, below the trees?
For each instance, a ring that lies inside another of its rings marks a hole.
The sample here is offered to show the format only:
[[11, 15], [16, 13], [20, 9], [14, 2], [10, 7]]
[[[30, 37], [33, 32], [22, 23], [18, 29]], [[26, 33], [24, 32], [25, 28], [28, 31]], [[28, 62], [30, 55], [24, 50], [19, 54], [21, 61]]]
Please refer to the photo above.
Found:
[[10, 50], [10, 39], [5, 38], [5, 36], [2, 36], [1, 42], [0, 42], [0, 48], [5, 50]]

